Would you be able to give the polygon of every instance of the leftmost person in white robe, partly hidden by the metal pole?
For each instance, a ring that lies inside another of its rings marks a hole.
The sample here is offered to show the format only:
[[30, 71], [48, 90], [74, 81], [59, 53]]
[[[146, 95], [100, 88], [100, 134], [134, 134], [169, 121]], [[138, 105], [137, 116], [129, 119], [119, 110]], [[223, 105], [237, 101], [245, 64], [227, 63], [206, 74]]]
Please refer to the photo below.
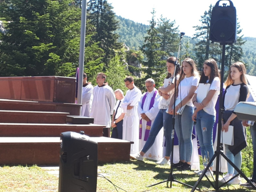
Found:
[[93, 86], [87, 81], [87, 74], [83, 73], [82, 81], [82, 111], [81, 116], [90, 116], [93, 102]]

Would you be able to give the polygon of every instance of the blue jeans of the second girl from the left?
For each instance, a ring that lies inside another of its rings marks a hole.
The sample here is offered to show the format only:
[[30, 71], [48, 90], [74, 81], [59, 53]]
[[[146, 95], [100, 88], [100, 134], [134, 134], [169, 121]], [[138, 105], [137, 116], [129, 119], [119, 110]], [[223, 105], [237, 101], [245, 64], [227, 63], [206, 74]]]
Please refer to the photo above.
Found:
[[179, 140], [180, 160], [191, 162], [193, 143], [192, 132], [193, 124], [192, 115], [194, 108], [186, 105], [181, 115], [175, 115], [175, 131]]

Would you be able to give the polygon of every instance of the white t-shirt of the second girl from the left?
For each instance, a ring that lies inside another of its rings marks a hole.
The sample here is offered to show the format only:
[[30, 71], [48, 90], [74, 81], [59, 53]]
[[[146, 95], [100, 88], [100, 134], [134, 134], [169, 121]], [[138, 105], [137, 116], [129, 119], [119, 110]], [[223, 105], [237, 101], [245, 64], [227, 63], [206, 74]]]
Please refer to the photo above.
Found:
[[[188, 95], [191, 86], [198, 87], [199, 79], [200, 78], [198, 76], [185, 77], [184, 79], [182, 79], [179, 84], [179, 93], [178, 93], [177, 100], [178, 99], [183, 100]], [[192, 102], [192, 98], [186, 103], [186, 105], [194, 106]]]

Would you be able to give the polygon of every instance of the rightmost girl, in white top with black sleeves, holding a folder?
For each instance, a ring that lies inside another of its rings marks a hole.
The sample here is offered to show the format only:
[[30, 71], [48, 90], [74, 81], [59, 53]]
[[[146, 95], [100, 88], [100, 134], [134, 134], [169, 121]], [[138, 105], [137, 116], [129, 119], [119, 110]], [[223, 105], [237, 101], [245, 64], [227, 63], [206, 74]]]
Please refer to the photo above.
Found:
[[[246, 70], [242, 62], [233, 63], [228, 71], [228, 77], [225, 82], [226, 90], [223, 96], [223, 107], [225, 109], [222, 115], [222, 131], [227, 132], [228, 127], [233, 126], [233, 145], [226, 145], [226, 156], [234, 165], [241, 169], [242, 154], [241, 151], [247, 146], [245, 130], [242, 120], [239, 120], [234, 108], [241, 101], [246, 101], [248, 96], [247, 79], [245, 77]], [[227, 163], [228, 173], [220, 182], [226, 182], [238, 172], [229, 163]], [[240, 184], [241, 178], [237, 176], [228, 182], [228, 184]]]

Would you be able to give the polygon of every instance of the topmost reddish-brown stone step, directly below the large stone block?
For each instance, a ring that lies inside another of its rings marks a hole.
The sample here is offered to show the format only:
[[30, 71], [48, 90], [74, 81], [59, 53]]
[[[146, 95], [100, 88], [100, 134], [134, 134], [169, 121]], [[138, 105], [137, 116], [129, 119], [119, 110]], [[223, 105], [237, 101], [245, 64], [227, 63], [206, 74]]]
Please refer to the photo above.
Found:
[[81, 104], [0, 99], [1, 110], [63, 112], [79, 115]]

